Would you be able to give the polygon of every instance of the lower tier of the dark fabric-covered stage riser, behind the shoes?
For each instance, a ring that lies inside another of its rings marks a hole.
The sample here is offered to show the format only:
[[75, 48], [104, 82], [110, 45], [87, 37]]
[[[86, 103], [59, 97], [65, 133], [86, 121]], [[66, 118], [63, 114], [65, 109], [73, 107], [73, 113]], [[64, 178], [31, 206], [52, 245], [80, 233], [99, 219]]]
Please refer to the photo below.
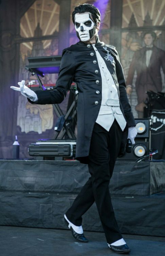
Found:
[[[76, 194], [0, 192], [0, 225], [66, 229], [63, 215]], [[165, 237], [165, 193], [115, 196], [112, 204], [124, 234]], [[83, 215], [83, 229], [102, 232], [95, 203]]]

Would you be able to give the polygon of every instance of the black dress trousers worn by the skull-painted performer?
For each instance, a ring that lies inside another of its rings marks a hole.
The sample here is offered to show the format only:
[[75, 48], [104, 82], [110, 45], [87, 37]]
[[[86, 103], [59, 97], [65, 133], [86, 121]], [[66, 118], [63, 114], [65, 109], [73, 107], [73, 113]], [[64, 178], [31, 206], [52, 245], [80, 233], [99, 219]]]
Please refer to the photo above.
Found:
[[122, 130], [114, 120], [109, 131], [95, 123], [89, 152], [89, 172], [91, 177], [81, 189], [67, 218], [76, 226], [81, 226], [82, 215], [96, 202], [107, 243], [111, 244], [122, 238], [117, 226], [109, 193], [109, 181], [114, 164], [120, 151]]

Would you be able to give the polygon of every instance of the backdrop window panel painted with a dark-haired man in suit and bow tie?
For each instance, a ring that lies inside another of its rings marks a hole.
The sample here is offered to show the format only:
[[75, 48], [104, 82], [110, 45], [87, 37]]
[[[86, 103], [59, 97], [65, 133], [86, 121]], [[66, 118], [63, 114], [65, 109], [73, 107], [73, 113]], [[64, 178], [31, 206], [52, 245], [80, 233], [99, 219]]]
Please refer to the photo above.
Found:
[[146, 91], [165, 92], [164, 8], [165, 1], [123, 2], [122, 28], [130, 30], [122, 33], [121, 59], [136, 118], [143, 117]]

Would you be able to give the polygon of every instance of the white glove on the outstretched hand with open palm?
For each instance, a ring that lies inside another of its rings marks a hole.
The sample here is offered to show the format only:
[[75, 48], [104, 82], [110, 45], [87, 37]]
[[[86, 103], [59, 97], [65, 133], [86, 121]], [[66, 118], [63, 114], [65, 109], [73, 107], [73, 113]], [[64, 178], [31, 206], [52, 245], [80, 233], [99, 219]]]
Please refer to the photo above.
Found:
[[18, 85], [20, 86], [20, 88], [15, 86], [11, 86], [10, 88], [16, 91], [20, 91], [23, 96], [28, 97], [31, 101], [38, 100], [37, 94], [25, 85], [24, 80], [18, 82]]

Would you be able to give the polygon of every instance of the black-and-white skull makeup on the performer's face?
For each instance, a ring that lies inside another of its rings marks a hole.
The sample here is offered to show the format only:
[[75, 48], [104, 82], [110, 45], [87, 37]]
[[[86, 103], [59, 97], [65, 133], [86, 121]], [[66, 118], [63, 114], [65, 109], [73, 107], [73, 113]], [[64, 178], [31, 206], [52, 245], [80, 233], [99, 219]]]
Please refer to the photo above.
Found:
[[77, 37], [82, 41], [89, 41], [96, 32], [96, 26], [89, 13], [75, 14], [75, 29]]

